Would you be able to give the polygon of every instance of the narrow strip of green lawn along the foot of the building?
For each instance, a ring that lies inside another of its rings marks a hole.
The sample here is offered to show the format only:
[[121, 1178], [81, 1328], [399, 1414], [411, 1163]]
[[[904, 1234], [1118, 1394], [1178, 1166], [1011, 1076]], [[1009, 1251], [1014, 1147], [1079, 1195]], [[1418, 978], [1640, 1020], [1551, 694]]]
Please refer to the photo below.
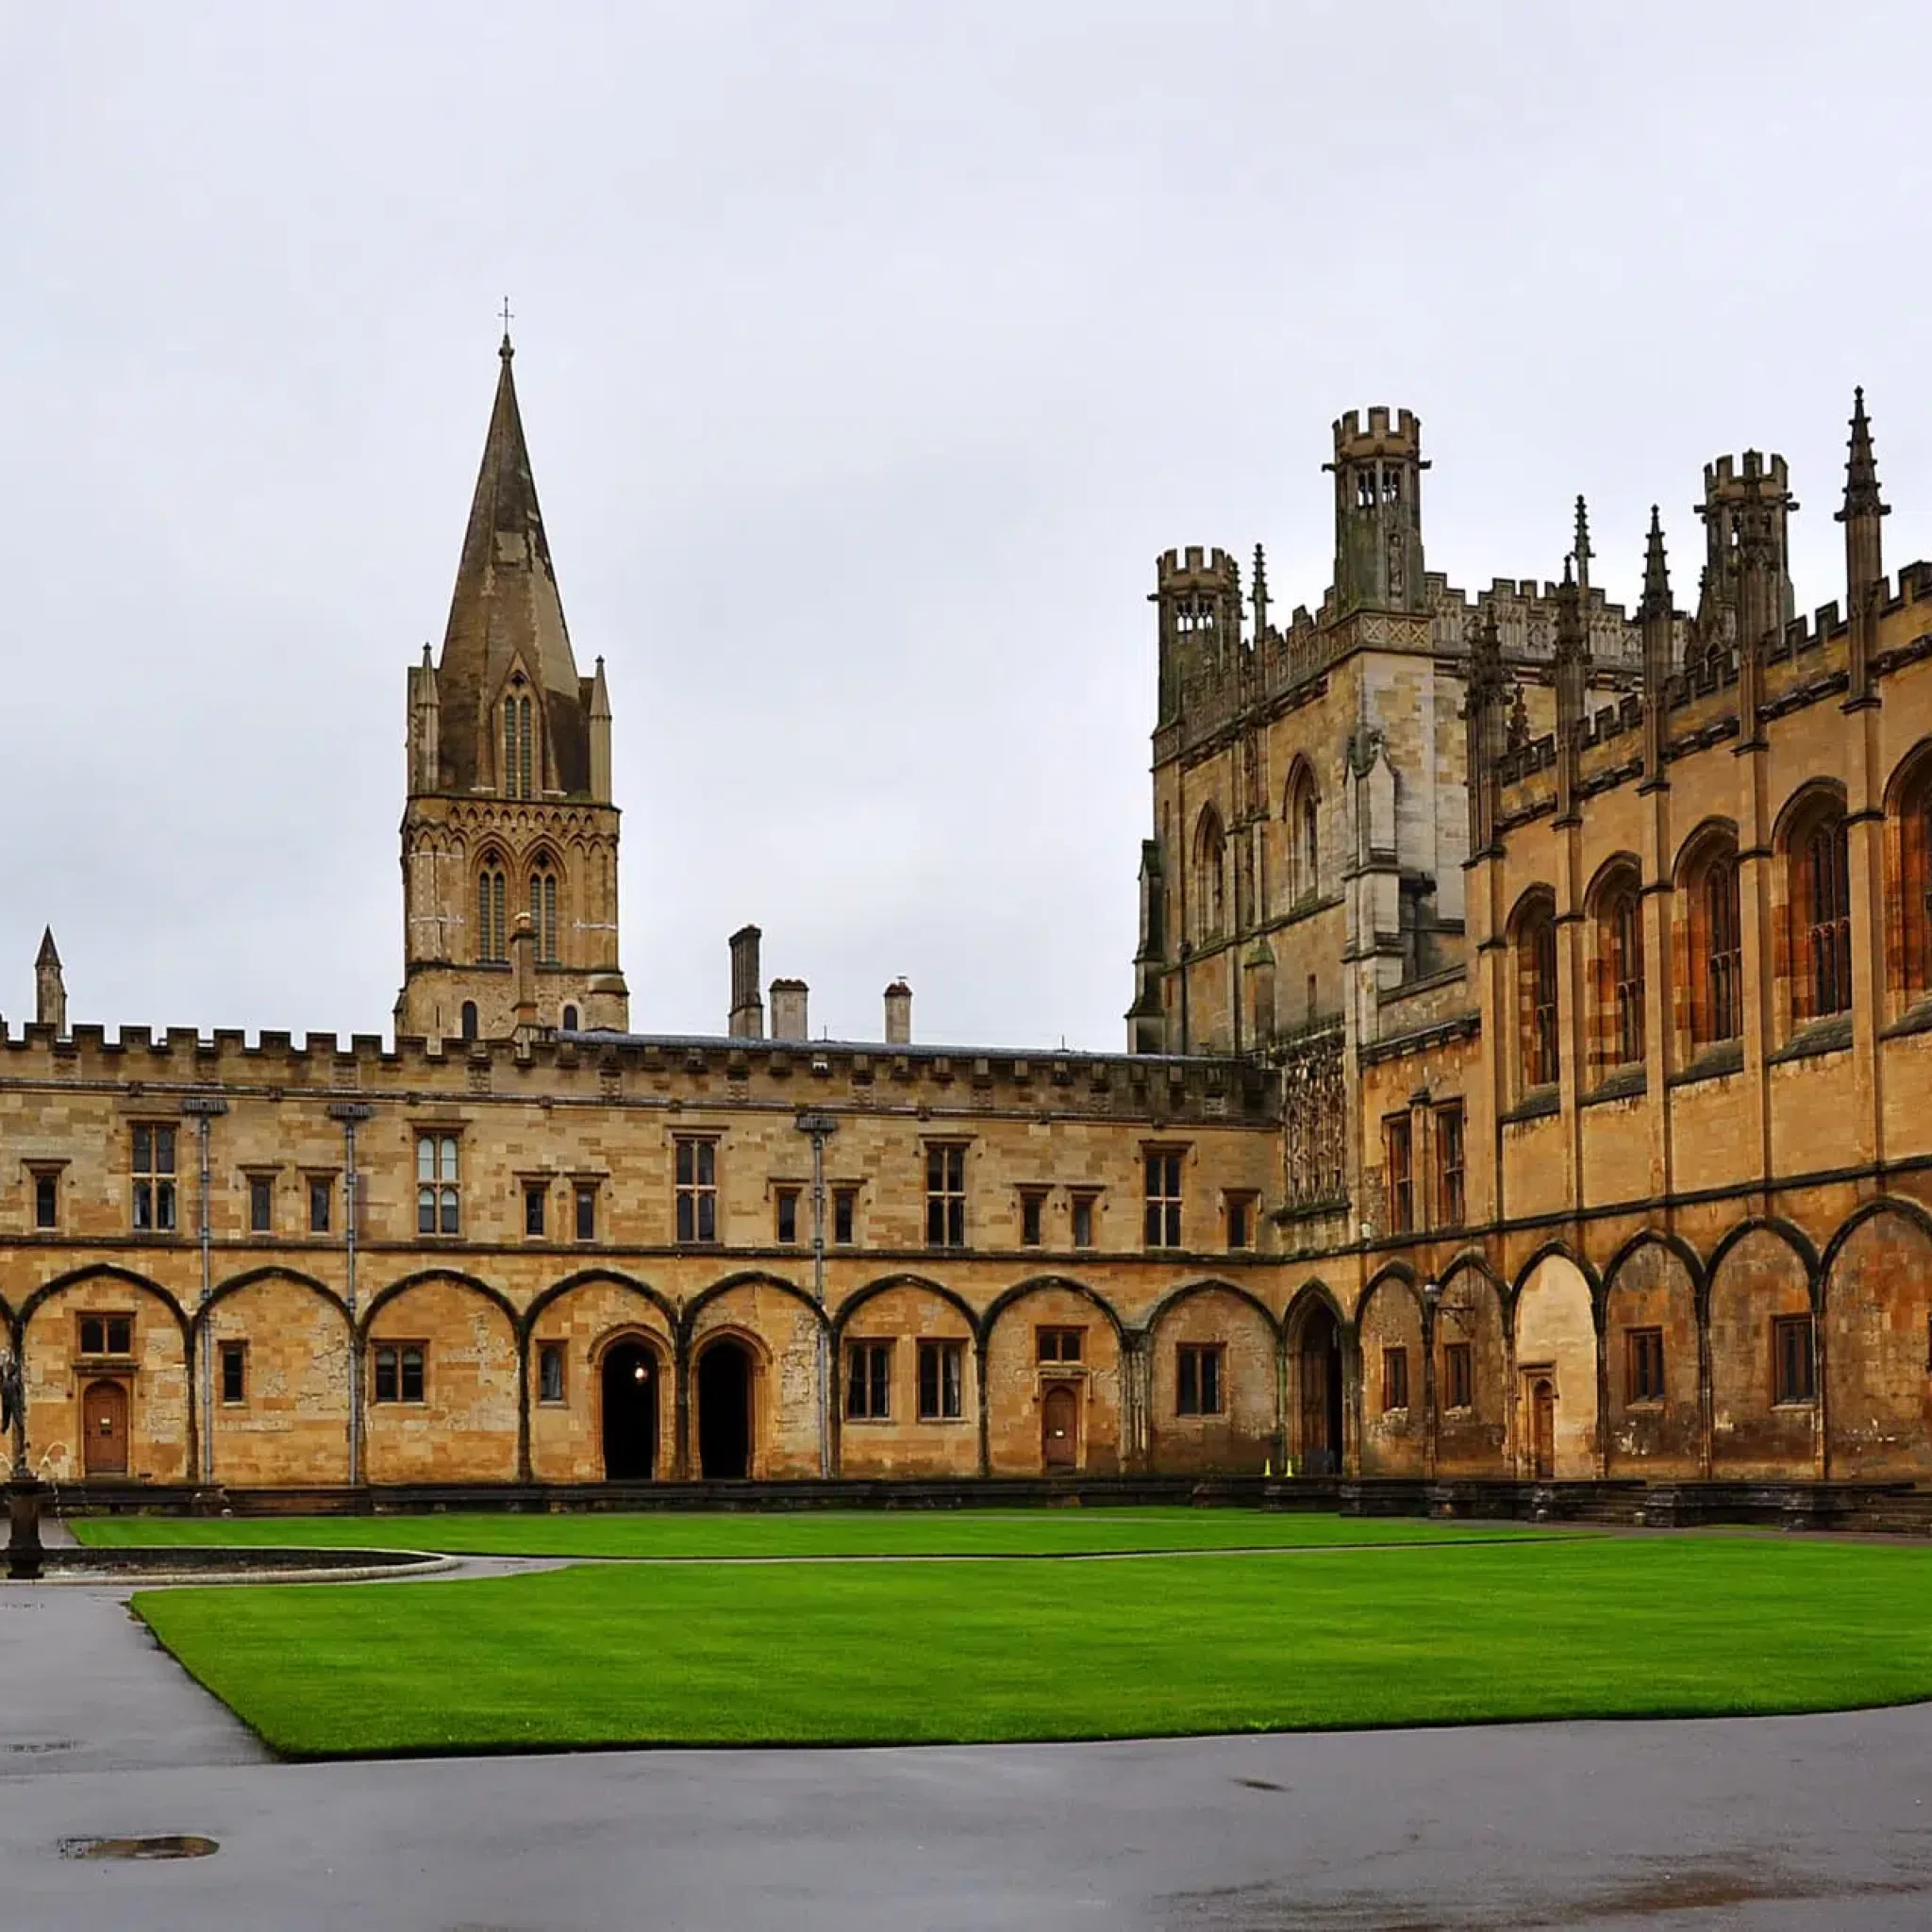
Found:
[[1536, 1534], [1511, 1522], [1260, 1509], [914, 1509], [732, 1515], [75, 1517], [83, 1544], [290, 1544], [491, 1557], [1090, 1555], [1109, 1549], [1420, 1544]]

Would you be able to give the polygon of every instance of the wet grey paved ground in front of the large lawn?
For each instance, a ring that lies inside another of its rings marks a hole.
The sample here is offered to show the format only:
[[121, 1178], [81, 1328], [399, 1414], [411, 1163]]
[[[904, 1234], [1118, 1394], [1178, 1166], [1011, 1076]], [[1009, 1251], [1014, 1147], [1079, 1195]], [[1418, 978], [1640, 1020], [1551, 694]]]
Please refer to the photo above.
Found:
[[[124, 1592], [0, 1586], [8, 1932], [1922, 1928], [1928, 1806], [1932, 1706], [284, 1766]], [[141, 1833], [220, 1851], [60, 1855]]]

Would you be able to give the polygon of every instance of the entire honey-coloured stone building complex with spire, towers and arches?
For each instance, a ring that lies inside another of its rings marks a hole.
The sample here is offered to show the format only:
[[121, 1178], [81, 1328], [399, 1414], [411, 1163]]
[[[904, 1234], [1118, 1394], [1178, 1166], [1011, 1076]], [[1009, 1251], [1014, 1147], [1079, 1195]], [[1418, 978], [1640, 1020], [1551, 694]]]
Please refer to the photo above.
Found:
[[[392, 1043], [0, 1028], [0, 1318], [60, 1482], [1932, 1474], [1932, 570], [1793, 618], [1783, 464], [1694, 614], [1424, 566], [1335, 425], [1335, 582], [1157, 564], [1128, 1051], [628, 1030], [603, 661], [508, 342], [410, 670]], [[723, 991], [723, 987], [721, 987]], [[723, 1001], [721, 1001], [723, 1005]]]

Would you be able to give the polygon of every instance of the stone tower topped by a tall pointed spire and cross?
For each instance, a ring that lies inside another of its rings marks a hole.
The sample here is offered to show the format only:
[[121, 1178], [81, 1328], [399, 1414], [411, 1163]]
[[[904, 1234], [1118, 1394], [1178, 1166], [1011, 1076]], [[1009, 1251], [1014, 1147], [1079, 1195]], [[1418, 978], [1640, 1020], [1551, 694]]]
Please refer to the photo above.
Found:
[[508, 336], [498, 355], [442, 657], [431, 663], [425, 643], [410, 670], [398, 1036], [516, 1032], [520, 916], [539, 1028], [630, 1024], [611, 696], [603, 659], [583, 678], [570, 655]]

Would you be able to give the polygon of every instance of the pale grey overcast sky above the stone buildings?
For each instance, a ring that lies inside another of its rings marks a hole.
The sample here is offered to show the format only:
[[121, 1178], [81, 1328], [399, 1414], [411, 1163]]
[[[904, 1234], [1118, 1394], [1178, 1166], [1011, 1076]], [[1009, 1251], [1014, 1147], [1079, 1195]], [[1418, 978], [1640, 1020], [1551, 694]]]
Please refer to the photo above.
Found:
[[0, 1010], [388, 1028], [404, 670], [497, 375], [603, 653], [639, 1030], [726, 935], [813, 1032], [1119, 1047], [1153, 556], [1327, 582], [1329, 423], [1432, 568], [1634, 597], [1853, 383], [1932, 553], [1928, 10], [0, 0]]

